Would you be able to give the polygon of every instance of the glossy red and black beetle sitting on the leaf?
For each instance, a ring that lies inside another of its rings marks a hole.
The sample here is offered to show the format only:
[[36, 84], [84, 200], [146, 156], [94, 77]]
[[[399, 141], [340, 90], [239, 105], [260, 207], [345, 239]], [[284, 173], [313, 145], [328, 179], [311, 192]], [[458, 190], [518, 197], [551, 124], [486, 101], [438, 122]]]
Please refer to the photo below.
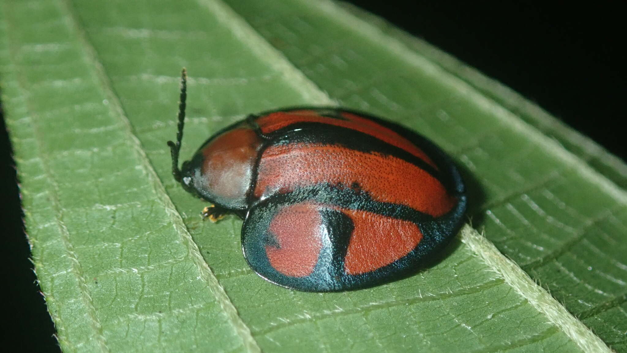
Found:
[[340, 108], [249, 115], [218, 131], [179, 169], [181, 77], [172, 175], [243, 219], [246, 261], [264, 279], [307, 292], [362, 289], [415, 274], [463, 223], [460, 173], [430, 141]]

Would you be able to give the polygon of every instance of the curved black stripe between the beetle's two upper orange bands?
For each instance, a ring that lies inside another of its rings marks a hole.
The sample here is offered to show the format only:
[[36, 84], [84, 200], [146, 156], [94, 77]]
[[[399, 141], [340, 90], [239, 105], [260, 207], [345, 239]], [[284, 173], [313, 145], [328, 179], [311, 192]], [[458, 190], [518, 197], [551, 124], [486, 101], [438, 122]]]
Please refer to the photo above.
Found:
[[[340, 145], [350, 150], [365, 153], [377, 152], [382, 155], [394, 156], [418, 166], [418, 168], [421, 168], [434, 178], [440, 180], [440, 182], [443, 182], [442, 173], [433, 168], [433, 166], [429, 165], [429, 163], [422, 158], [409, 153], [403, 148], [379, 140], [379, 138], [375, 136], [351, 128], [325, 123], [303, 122], [294, 123], [272, 134], [268, 134], [268, 136], [273, 137], [271, 140], [272, 145], [291, 145], [295, 143], [308, 145], [321, 143], [323, 145]], [[376, 173], [376, 171], [373, 171], [373, 173]], [[443, 183], [443, 185], [445, 184]]]

